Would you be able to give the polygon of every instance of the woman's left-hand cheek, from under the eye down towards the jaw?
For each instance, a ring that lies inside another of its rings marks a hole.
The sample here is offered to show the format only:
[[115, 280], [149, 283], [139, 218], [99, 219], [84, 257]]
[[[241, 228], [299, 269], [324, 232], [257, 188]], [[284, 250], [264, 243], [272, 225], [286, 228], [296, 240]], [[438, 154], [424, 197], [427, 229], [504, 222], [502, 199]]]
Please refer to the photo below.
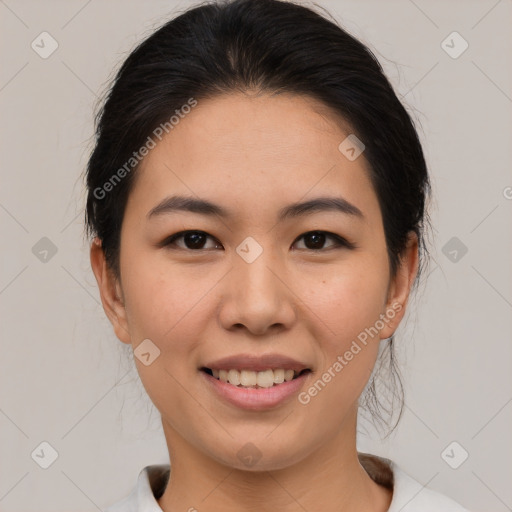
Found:
[[148, 261], [147, 257], [137, 261], [126, 258], [131, 272], [123, 289], [134, 349], [150, 339], [160, 353], [149, 366], [137, 357], [134, 361], [158, 410], [186, 411], [197, 406], [183, 385], [196, 370], [202, 334], [214, 314], [210, 294], [221, 274], [215, 278], [212, 271]]

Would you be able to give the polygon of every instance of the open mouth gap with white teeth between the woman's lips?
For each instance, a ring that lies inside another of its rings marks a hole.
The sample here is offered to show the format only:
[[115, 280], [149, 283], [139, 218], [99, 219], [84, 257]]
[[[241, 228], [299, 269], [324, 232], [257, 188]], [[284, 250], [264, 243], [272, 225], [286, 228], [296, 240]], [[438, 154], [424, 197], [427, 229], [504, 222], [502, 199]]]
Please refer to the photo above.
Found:
[[311, 373], [309, 368], [302, 370], [268, 368], [263, 371], [254, 371], [238, 370], [234, 368], [229, 370], [217, 370], [202, 367], [200, 370], [218, 381], [244, 389], [273, 388]]

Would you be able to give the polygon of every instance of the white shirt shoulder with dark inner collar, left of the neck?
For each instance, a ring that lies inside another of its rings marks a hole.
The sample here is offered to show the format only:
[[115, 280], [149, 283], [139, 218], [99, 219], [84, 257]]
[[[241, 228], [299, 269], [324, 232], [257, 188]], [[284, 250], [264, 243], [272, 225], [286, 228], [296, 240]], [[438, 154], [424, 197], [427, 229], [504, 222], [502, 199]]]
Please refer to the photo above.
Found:
[[165, 490], [169, 474], [169, 464], [146, 466], [139, 473], [133, 491], [108, 507], [105, 512], [162, 512], [157, 499]]

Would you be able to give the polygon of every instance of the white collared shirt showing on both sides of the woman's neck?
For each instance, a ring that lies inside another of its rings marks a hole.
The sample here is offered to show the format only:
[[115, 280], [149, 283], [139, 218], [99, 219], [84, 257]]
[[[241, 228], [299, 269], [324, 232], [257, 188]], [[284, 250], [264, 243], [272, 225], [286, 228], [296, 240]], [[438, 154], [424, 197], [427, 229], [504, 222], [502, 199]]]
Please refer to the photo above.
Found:
[[[370, 454], [359, 455], [372, 479], [393, 489], [388, 512], [469, 512], [447, 496], [424, 487], [391, 460]], [[131, 494], [105, 512], [162, 512], [157, 499], [165, 490], [169, 472], [169, 464], [146, 466], [139, 473]]]

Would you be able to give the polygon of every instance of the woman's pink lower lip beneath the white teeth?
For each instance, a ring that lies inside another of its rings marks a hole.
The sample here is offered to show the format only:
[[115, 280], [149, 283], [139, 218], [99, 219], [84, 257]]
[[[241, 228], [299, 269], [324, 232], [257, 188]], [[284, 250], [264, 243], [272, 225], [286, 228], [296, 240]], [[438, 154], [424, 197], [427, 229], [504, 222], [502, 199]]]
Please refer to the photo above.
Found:
[[202, 370], [200, 370], [200, 373], [206, 378], [214, 391], [230, 404], [250, 411], [261, 411], [282, 405], [290, 397], [297, 394], [311, 372], [303, 373], [288, 382], [275, 384], [271, 388], [239, 388], [216, 379]]

